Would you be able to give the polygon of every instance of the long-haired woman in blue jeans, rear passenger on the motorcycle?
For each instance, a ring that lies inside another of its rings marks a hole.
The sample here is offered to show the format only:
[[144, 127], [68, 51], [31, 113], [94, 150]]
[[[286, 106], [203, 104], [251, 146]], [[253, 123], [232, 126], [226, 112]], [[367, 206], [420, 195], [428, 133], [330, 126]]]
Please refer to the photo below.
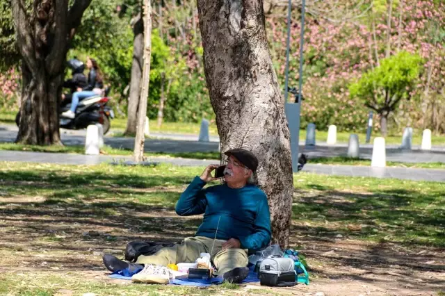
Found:
[[90, 73], [88, 73], [88, 85], [84, 88], [78, 88], [77, 91], [72, 94], [71, 108], [70, 110], [67, 110], [61, 114], [63, 117], [73, 119], [76, 116], [76, 108], [77, 105], [79, 105], [79, 101], [86, 99], [87, 97], [102, 94], [104, 84], [99, 65], [97, 65], [94, 58], [88, 57], [86, 60], [86, 66], [88, 69], [90, 69]]

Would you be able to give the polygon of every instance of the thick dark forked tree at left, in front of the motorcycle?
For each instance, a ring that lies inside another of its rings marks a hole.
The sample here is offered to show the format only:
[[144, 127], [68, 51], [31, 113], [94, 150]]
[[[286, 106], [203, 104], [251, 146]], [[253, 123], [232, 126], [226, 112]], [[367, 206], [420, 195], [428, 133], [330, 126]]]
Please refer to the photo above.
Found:
[[[22, 56], [22, 105], [16, 142], [60, 143], [58, 103], [68, 45], [91, 0], [11, 1]], [[29, 6], [31, 3], [31, 6]]]

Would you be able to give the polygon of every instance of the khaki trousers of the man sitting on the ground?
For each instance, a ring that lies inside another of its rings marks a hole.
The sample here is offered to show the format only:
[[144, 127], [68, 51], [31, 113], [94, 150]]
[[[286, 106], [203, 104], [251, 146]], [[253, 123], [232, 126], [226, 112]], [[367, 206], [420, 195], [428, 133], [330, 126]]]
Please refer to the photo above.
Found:
[[[225, 240], [215, 240], [211, 259], [218, 268], [216, 274], [224, 274], [234, 268], [243, 268], [248, 265], [248, 253], [244, 249], [225, 249], [222, 245]], [[181, 244], [160, 249], [152, 256], [139, 256], [136, 263], [167, 266], [177, 263], [194, 263], [201, 253], [210, 253], [213, 239], [203, 236], [185, 238]]]

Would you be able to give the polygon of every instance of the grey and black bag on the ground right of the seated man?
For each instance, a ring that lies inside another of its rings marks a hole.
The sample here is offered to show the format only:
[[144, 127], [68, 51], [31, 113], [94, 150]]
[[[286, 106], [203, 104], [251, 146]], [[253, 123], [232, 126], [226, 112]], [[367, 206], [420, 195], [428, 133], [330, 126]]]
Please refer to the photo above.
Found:
[[296, 283], [295, 262], [291, 258], [266, 258], [259, 265], [261, 286], [291, 287]]

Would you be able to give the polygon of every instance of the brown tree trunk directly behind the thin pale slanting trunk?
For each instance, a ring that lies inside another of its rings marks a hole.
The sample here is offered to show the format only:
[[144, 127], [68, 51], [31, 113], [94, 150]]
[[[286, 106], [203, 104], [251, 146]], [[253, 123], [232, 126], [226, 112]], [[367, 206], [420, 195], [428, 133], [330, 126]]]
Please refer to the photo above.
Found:
[[140, 98], [140, 79], [143, 71], [144, 20], [139, 16], [133, 26], [133, 63], [131, 64], [130, 96], [127, 108], [126, 135], [136, 134], [138, 106]]

